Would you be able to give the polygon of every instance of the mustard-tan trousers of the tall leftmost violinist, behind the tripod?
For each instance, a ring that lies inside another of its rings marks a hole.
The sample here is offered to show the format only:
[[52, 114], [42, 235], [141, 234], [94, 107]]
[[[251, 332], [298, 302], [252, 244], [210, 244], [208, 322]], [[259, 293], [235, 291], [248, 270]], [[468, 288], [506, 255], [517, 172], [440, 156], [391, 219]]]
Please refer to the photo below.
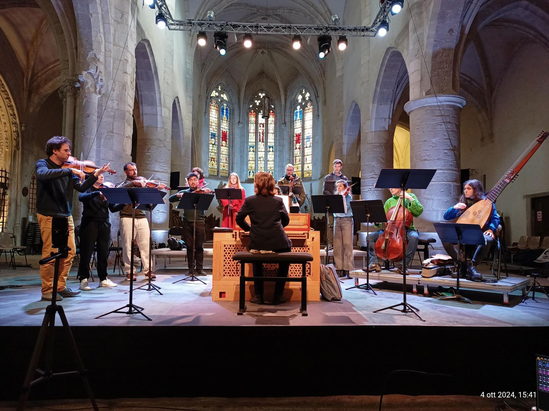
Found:
[[[38, 225], [42, 233], [42, 258], [49, 257], [51, 252], [57, 252], [57, 248], [52, 248], [52, 217], [37, 214]], [[57, 292], [63, 291], [66, 288], [66, 279], [69, 277], [69, 271], [72, 267], [72, 259], [76, 255], [76, 245], [74, 242], [74, 221], [72, 216], [69, 217], [69, 256], [59, 260], [59, 281], [57, 283]], [[51, 293], [53, 291], [53, 273], [54, 263], [52, 260], [48, 264], [40, 266], [40, 278], [42, 278], [42, 294]]]

